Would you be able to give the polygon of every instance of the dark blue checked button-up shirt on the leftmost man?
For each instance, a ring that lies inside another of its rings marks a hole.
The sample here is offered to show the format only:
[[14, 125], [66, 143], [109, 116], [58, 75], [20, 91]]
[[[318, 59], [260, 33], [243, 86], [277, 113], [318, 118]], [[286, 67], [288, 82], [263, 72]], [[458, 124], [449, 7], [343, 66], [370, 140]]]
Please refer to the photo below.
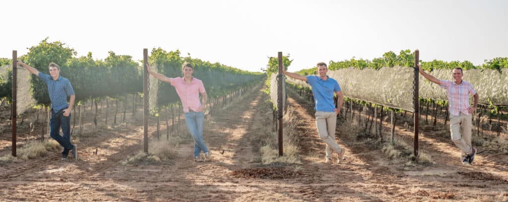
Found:
[[48, 84], [49, 99], [51, 100], [51, 108], [54, 112], [69, 107], [67, 96], [76, 93], [68, 79], [59, 76], [58, 79], [53, 80], [53, 77], [42, 72], [39, 72], [39, 79]]

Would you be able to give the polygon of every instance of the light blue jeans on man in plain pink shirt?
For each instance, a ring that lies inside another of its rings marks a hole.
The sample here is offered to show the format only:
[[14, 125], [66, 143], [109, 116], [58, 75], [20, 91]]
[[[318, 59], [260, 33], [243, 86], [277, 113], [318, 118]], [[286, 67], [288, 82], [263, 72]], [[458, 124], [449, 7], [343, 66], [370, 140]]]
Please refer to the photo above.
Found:
[[203, 142], [203, 121], [205, 115], [203, 112], [187, 112], [185, 113], [185, 124], [194, 139], [194, 156], [199, 156], [201, 151], [208, 152], [208, 148]]

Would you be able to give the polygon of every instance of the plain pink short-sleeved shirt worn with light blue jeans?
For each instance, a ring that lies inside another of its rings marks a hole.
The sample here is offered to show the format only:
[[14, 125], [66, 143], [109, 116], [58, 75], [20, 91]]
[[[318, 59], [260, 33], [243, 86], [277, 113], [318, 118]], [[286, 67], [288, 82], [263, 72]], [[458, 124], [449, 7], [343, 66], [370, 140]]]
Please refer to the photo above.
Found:
[[170, 78], [170, 80], [171, 85], [175, 87], [176, 93], [182, 101], [183, 111], [187, 113], [191, 109], [197, 112], [201, 106], [199, 93], [206, 92], [203, 82], [194, 77], [192, 78], [192, 83], [189, 84], [185, 83], [183, 77]]

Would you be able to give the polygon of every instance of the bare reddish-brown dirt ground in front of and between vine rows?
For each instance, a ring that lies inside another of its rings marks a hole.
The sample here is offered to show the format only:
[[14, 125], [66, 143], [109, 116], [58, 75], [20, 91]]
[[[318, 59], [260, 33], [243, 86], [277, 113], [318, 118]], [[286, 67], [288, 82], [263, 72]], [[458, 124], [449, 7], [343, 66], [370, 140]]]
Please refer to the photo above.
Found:
[[[211, 161], [195, 162], [193, 143], [186, 141], [176, 148], [178, 155], [164, 163], [121, 165], [120, 161], [142, 150], [142, 121], [131, 120], [80, 138], [78, 161], [61, 161], [59, 152], [50, 152], [0, 165], [0, 200], [508, 200], [508, 157], [483, 153], [472, 166], [464, 166], [458, 148], [439, 132], [424, 131], [420, 138], [420, 147], [434, 164], [406, 165], [355, 138], [351, 134], [355, 125], [339, 119], [336, 137], [346, 149], [346, 158], [340, 164], [326, 164], [312, 105], [295, 94], [289, 94], [288, 102], [300, 120], [302, 163], [262, 165], [253, 137], [272, 126], [272, 117], [267, 117], [270, 106], [265, 104], [269, 97], [259, 88], [244, 96], [207, 116], [204, 140], [213, 152]], [[156, 126], [150, 121], [153, 134]], [[30, 138], [25, 133], [21, 132], [21, 139]], [[6, 136], [2, 134], [0, 154], [10, 152]], [[412, 134], [397, 127], [397, 136], [410, 140]], [[97, 147], [99, 152], [93, 155]]]

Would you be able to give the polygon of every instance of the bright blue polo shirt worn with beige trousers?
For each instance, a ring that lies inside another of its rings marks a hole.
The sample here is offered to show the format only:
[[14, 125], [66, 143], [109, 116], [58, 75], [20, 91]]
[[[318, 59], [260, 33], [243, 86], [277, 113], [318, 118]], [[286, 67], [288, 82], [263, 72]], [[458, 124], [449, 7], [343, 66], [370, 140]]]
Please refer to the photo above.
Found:
[[330, 77], [325, 81], [316, 75], [307, 76], [307, 83], [312, 87], [314, 109], [321, 112], [334, 112], [333, 93], [340, 91], [339, 83]]

